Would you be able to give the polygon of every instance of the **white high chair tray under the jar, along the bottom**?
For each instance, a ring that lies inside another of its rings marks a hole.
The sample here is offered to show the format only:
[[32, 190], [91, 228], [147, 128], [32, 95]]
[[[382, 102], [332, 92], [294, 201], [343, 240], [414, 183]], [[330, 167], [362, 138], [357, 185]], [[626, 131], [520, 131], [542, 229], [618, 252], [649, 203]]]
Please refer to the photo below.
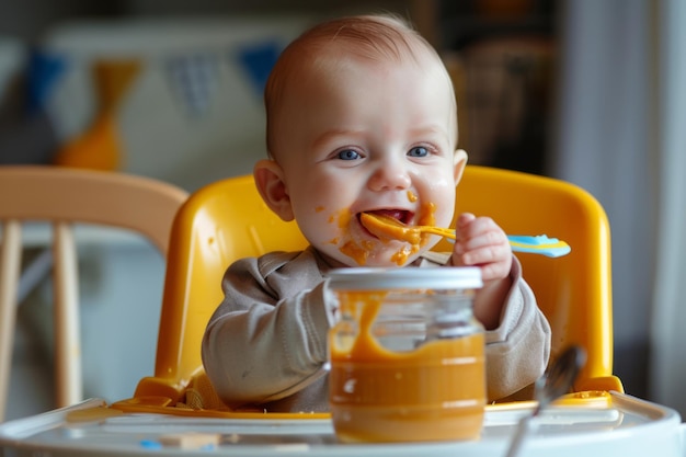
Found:
[[[551, 407], [536, 419], [522, 456], [686, 456], [679, 414], [627, 395], [603, 408]], [[2, 456], [504, 456], [531, 403], [487, 408], [479, 439], [447, 443], [342, 444], [327, 419], [215, 419], [149, 413], [99, 414], [104, 400], [0, 424]], [[87, 410], [94, 414], [90, 420]], [[79, 420], [72, 420], [75, 411]], [[85, 414], [83, 414], [85, 412]], [[195, 433], [217, 445], [184, 449], [162, 436]]]

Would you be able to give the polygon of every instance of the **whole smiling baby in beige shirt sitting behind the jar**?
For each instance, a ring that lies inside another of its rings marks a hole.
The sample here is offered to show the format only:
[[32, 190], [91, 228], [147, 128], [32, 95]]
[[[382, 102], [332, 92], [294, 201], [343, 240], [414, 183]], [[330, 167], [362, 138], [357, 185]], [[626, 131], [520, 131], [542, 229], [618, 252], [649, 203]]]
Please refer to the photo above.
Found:
[[467, 155], [437, 53], [402, 21], [353, 16], [304, 33], [265, 89], [270, 160], [254, 179], [310, 245], [230, 265], [225, 299], [203, 339], [203, 363], [227, 405], [325, 411], [327, 334], [335, 301], [327, 273], [344, 266], [476, 265], [484, 286], [475, 316], [487, 329], [490, 400], [531, 385], [546, 368], [550, 329], [503, 230], [462, 214], [451, 253], [375, 237], [362, 213], [447, 227]]

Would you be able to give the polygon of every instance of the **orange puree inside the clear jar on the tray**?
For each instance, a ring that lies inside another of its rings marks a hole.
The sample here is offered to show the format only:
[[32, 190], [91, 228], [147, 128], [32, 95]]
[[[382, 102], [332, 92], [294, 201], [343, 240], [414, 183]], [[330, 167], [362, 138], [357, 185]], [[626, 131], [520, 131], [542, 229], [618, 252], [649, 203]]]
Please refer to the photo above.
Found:
[[469, 439], [485, 404], [483, 332], [391, 351], [373, 334], [386, 292], [338, 290], [330, 332], [330, 405], [344, 442]]

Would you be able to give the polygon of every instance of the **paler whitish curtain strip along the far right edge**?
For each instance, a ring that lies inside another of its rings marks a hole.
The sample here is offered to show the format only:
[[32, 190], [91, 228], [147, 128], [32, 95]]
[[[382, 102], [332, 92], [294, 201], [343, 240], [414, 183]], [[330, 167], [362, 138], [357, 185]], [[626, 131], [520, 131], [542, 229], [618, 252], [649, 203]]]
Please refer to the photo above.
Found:
[[658, 14], [659, 151], [650, 395], [686, 419], [686, 2], [663, 0]]

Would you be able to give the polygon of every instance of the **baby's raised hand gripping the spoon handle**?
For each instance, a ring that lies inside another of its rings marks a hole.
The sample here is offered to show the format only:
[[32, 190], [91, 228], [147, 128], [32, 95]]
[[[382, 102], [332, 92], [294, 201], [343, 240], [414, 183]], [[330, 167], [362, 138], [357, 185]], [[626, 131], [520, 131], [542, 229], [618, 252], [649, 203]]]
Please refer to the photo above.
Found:
[[462, 213], [455, 227], [453, 265], [479, 266], [483, 282], [503, 279], [512, 267], [507, 236], [490, 217]]

